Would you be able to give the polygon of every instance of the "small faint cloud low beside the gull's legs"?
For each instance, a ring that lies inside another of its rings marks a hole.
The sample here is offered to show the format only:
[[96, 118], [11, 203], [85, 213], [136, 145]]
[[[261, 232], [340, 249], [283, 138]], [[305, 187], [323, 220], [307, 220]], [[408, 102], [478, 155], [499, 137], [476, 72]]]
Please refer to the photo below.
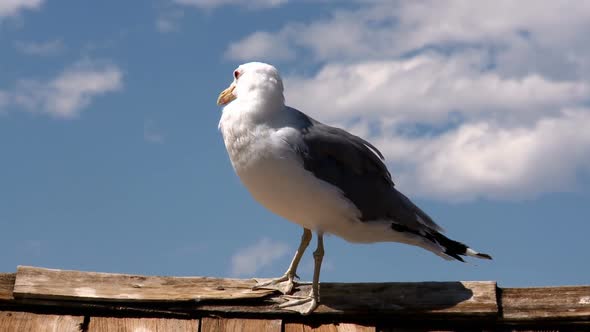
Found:
[[240, 249], [231, 259], [231, 273], [235, 276], [251, 276], [287, 254], [288, 246], [263, 238], [256, 244]]

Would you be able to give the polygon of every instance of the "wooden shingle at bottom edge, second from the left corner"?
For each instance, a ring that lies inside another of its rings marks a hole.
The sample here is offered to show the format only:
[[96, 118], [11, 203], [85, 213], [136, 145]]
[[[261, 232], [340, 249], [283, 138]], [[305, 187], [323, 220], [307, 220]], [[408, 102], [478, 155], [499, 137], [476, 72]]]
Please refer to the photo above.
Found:
[[198, 332], [198, 319], [91, 317], [88, 332]]

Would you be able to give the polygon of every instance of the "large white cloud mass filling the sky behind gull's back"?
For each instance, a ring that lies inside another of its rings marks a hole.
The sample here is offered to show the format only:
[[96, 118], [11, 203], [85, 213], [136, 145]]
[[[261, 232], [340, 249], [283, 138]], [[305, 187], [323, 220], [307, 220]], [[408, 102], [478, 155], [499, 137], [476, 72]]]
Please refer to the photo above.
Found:
[[312, 61], [287, 102], [370, 138], [406, 191], [526, 198], [590, 171], [588, 31], [586, 1], [358, 0], [226, 56]]

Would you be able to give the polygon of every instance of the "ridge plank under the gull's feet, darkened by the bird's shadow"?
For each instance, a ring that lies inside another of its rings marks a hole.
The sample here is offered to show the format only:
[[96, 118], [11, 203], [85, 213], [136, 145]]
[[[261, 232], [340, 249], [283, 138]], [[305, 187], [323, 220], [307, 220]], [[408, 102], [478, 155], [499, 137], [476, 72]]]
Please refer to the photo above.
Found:
[[[300, 285], [295, 295], [308, 294], [309, 290], [309, 285]], [[278, 308], [284, 301], [282, 296], [276, 296], [256, 306], [203, 304], [198, 310], [285, 314], [289, 311]], [[312, 315], [496, 317], [498, 314], [495, 282], [322, 283], [320, 301]]]

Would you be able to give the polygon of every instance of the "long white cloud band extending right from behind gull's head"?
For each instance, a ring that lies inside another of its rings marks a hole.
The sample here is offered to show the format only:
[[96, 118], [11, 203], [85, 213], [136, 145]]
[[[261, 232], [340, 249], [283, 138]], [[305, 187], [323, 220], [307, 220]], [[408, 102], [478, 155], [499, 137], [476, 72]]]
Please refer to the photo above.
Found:
[[481, 55], [425, 54], [404, 60], [328, 64], [313, 77], [287, 77], [287, 101], [328, 121], [362, 115], [396, 123], [444, 122], [449, 114], [538, 118], [590, 99], [590, 83], [538, 74], [482, 71]]

